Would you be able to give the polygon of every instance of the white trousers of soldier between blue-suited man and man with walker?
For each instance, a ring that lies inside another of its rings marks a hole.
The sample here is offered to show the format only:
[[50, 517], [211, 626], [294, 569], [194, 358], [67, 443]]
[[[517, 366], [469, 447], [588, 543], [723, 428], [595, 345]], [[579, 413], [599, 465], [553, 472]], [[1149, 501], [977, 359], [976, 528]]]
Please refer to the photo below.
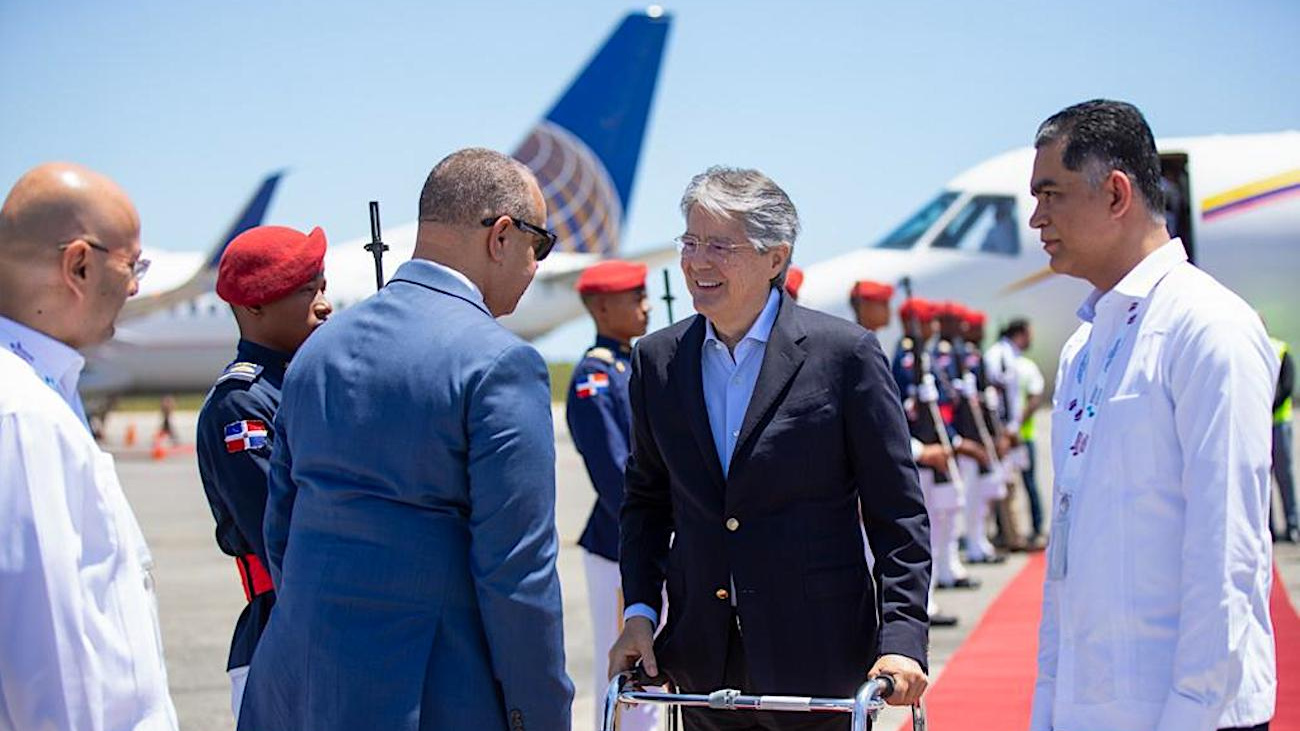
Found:
[[[623, 580], [618, 562], [582, 552], [586, 570], [586, 604], [592, 610], [592, 682], [595, 696], [594, 728], [604, 714], [604, 688], [610, 684], [610, 648], [623, 631]], [[619, 711], [619, 731], [651, 731], [659, 727], [659, 706], [624, 705]]]

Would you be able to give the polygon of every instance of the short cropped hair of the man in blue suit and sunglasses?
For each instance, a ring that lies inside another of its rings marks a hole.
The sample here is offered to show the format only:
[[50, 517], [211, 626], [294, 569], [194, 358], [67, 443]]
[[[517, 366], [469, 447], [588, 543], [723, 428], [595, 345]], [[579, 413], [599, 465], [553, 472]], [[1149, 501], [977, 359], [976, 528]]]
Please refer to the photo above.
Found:
[[488, 216], [530, 221], [532, 170], [494, 150], [469, 147], [447, 155], [429, 172], [420, 191], [420, 220], [477, 226]]

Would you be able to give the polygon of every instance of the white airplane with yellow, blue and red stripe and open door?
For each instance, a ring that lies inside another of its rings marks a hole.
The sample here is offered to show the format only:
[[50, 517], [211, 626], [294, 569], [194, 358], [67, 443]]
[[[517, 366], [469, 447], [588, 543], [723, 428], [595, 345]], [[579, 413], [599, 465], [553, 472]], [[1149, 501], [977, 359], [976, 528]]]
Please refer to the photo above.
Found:
[[[1165, 139], [1157, 147], [1173, 181], [1170, 229], [1192, 261], [1258, 310], [1270, 332], [1300, 343], [1300, 131]], [[800, 303], [852, 319], [854, 281], [909, 277], [918, 297], [988, 312], [989, 337], [1011, 317], [1028, 317], [1030, 355], [1050, 380], [1091, 286], [1046, 268], [1039, 233], [1028, 226], [1032, 166], [1034, 150], [1022, 148], [957, 176], [879, 242], [807, 267]], [[894, 321], [881, 342], [892, 349], [898, 334]]]

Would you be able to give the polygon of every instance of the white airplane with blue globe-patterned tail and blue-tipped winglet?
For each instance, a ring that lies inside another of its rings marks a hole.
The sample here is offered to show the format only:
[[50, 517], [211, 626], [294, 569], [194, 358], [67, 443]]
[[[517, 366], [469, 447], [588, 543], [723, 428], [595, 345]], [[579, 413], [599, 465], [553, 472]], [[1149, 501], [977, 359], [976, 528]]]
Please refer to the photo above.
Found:
[[[502, 324], [525, 338], [542, 336], [582, 313], [577, 276], [619, 252], [641, 144], [663, 60], [671, 17], [658, 8], [627, 16], [514, 156], [542, 185], [547, 225], [559, 235], [514, 315]], [[82, 397], [107, 410], [125, 393], [203, 392], [234, 355], [239, 337], [230, 308], [213, 286], [226, 243], [259, 225], [281, 173], [266, 178], [230, 232], [207, 255], [150, 252], [150, 276], [118, 317], [117, 334], [87, 354]], [[411, 258], [417, 224], [382, 233], [390, 250], [385, 273]], [[328, 233], [328, 232], [326, 232]], [[332, 245], [325, 254], [334, 310], [374, 291], [369, 238]], [[628, 259], [658, 265], [671, 245]]]

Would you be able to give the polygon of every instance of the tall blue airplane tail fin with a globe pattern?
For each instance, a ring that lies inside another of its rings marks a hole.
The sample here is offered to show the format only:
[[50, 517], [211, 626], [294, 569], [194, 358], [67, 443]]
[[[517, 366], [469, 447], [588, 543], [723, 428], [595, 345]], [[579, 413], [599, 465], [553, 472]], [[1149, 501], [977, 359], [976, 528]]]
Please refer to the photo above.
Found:
[[515, 150], [560, 251], [618, 254], [671, 16], [632, 13]]

